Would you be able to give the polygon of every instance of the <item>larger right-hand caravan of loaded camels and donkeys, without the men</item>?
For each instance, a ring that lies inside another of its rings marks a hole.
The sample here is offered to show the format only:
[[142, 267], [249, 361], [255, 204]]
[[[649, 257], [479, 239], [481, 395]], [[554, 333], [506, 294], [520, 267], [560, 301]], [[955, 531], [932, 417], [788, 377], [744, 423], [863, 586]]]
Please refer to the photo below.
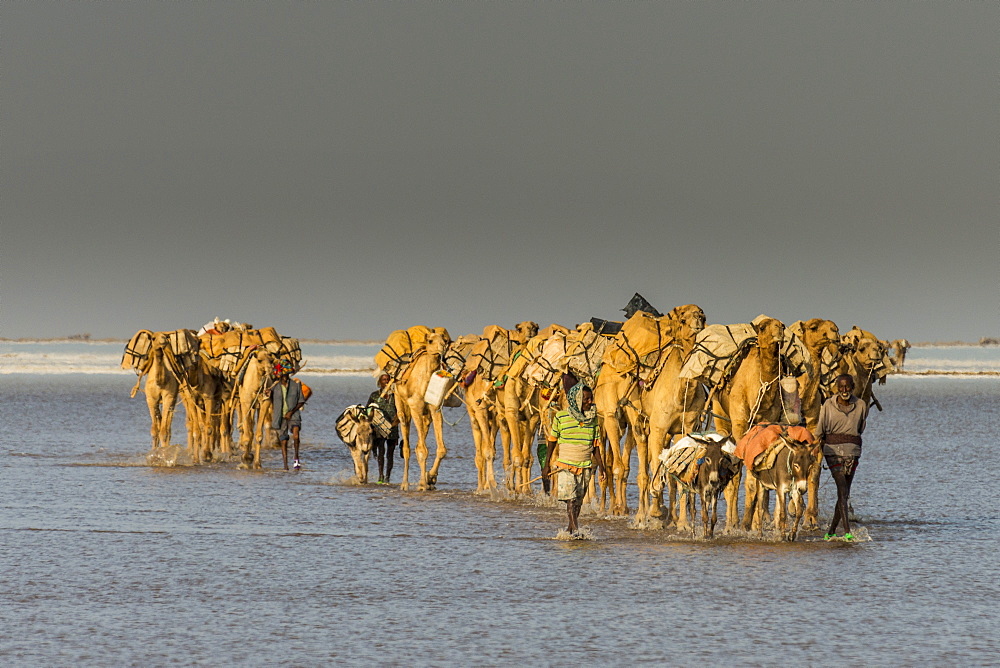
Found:
[[[822, 318], [786, 325], [760, 315], [749, 323], [708, 325], [696, 305], [662, 314], [638, 294], [623, 310], [623, 322], [489, 325], [481, 335], [457, 340], [442, 327], [393, 332], [375, 356], [375, 375], [388, 375], [383, 392], [395, 395], [401, 488], [410, 489], [410, 423], [416, 489], [434, 489], [448, 452], [441, 407], [464, 404], [477, 491], [546, 494], [548, 481], [532, 477], [533, 446], [579, 382], [593, 390], [609, 472], [603, 488], [590, 483], [588, 499], [598, 513], [631, 516], [636, 528], [693, 532], [700, 507], [703, 535], [712, 537], [716, 503], [724, 496], [727, 531], [762, 534], [769, 524], [782, 539], [794, 540], [800, 527], [815, 529], [820, 407], [835, 394], [838, 376], [848, 374], [859, 399], [882, 410], [873, 387], [894, 371], [888, 342], [857, 327], [841, 334]], [[428, 466], [431, 426], [436, 450]], [[502, 478], [495, 470], [498, 436]], [[633, 452], [634, 509], [626, 493]]]

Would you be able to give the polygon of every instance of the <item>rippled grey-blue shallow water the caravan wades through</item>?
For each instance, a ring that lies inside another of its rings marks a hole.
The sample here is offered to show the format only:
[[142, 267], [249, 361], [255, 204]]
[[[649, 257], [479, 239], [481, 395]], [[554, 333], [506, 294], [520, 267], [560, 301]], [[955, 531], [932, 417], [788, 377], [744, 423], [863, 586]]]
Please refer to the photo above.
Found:
[[[309, 378], [299, 473], [278, 470], [273, 450], [263, 473], [151, 467], [132, 382], [10, 374], [0, 386], [4, 665], [1000, 656], [1000, 379], [877, 388], [885, 412], [870, 419], [853, 496], [870, 541], [856, 544], [705, 541], [588, 510], [591, 540], [555, 540], [555, 504], [473, 493], [462, 409], [446, 411], [457, 424], [438, 491], [352, 485], [333, 420], [367, 397], [364, 377]], [[178, 417], [175, 442], [183, 433]]]

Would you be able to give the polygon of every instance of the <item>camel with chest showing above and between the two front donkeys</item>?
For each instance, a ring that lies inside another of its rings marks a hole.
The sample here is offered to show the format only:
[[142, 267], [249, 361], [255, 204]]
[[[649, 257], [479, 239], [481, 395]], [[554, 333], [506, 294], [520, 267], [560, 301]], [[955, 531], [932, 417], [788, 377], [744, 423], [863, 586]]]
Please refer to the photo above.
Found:
[[[756, 343], [749, 348], [722, 391], [715, 392], [712, 405], [716, 431], [729, 434], [737, 442], [751, 425], [779, 422], [784, 412], [778, 381], [782, 375], [780, 351], [785, 326], [779, 320], [761, 316], [754, 320], [753, 329], [757, 334]], [[732, 530], [739, 518], [740, 477], [740, 474], [734, 476], [725, 490], [727, 530]], [[747, 498], [756, 498], [756, 480], [752, 476], [747, 476], [746, 494]], [[744, 524], [748, 522], [744, 514]]]

